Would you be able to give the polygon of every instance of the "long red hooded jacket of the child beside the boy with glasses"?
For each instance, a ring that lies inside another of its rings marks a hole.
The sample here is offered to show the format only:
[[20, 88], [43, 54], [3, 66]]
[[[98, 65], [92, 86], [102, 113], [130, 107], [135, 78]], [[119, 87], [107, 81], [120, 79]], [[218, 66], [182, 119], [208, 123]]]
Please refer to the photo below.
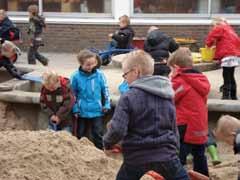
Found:
[[204, 144], [208, 137], [207, 96], [210, 84], [202, 73], [180, 68], [172, 77], [177, 125], [186, 125], [184, 142]]

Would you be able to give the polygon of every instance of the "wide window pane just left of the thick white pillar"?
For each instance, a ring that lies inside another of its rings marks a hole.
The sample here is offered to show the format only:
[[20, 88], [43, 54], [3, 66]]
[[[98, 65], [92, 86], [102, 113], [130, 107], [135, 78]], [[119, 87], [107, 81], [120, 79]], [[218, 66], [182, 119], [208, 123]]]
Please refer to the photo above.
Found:
[[112, 0], [43, 0], [44, 12], [111, 13]]

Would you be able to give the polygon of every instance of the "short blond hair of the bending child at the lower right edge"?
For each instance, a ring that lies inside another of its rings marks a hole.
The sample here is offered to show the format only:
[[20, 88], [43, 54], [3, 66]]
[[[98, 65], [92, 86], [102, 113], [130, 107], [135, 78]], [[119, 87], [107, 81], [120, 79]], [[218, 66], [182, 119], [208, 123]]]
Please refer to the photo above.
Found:
[[224, 115], [218, 120], [215, 135], [216, 137], [221, 135], [219, 138], [227, 137], [238, 129], [240, 129], [240, 121], [235, 117]]

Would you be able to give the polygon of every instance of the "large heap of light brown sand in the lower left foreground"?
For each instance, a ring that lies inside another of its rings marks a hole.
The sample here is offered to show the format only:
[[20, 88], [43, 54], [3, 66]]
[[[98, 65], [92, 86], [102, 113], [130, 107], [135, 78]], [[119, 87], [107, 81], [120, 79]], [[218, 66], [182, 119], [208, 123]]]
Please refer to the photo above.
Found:
[[1, 180], [111, 180], [121, 162], [66, 132], [0, 132]]

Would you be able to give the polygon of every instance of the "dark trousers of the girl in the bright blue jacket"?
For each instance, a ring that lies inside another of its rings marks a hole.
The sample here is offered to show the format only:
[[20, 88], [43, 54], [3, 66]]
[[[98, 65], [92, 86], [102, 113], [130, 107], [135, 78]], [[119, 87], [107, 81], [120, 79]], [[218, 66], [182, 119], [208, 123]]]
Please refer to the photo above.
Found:
[[96, 118], [79, 118], [78, 119], [78, 138], [89, 137], [94, 145], [103, 149], [103, 120], [101, 117]]

